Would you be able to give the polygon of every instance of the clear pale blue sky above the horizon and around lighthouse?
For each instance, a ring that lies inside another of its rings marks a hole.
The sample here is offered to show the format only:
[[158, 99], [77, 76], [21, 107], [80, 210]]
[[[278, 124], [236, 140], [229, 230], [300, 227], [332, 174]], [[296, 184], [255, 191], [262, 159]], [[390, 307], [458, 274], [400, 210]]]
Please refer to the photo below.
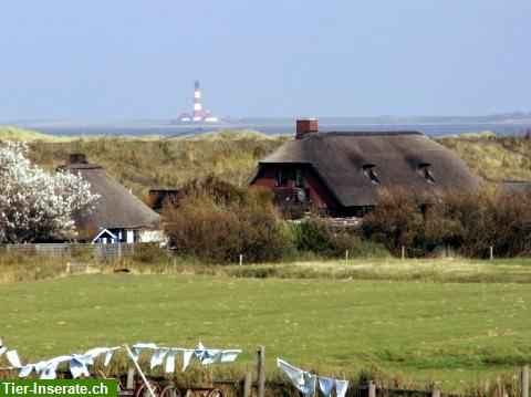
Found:
[[531, 111], [529, 0], [0, 0], [0, 122]]

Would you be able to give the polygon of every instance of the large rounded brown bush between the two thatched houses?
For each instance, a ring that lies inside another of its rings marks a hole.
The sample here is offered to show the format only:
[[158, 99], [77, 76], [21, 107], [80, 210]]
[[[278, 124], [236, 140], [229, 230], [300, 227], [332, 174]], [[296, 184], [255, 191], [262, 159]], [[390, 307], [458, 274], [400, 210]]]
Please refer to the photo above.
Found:
[[178, 253], [208, 262], [235, 262], [241, 253], [247, 262], [264, 262], [293, 250], [267, 194], [233, 188], [237, 194], [228, 195], [231, 189], [221, 194], [209, 186], [197, 186], [163, 210], [164, 229]]

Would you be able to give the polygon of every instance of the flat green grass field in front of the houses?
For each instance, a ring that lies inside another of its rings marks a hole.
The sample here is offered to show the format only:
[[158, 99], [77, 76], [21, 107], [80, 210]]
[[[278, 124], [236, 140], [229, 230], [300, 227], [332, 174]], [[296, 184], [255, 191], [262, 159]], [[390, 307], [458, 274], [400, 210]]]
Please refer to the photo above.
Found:
[[458, 390], [531, 361], [531, 289], [517, 283], [79, 275], [0, 285], [23, 359], [135, 342], [267, 347], [317, 370], [386, 373]]

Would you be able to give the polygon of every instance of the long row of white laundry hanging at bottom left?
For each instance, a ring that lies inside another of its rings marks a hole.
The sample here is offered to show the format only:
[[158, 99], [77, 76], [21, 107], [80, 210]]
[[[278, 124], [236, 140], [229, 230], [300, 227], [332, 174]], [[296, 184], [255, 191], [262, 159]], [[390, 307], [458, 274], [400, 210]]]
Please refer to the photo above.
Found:
[[[95, 347], [83, 354], [62, 355], [48, 361], [25, 365], [22, 364], [18, 352], [14, 349], [8, 351], [7, 347], [0, 347], [0, 356], [6, 354], [11, 366], [20, 369], [19, 377], [27, 377], [32, 372], [35, 372], [41, 379], [55, 379], [58, 367], [62, 363], [69, 363], [72, 377], [77, 378], [81, 375], [88, 376], [88, 366], [94, 365], [94, 359], [103, 354], [105, 354], [104, 366], [107, 366], [111, 363], [114, 352], [119, 348], [119, 346]], [[241, 353], [241, 349], [207, 349], [200, 342], [196, 348], [163, 347], [157, 346], [155, 343], [137, 343], [131, 348], [132, 359], [134, 359], [135, 363], [138, 361], [138, 355], [144, 349], [153, 351], [150, 359], [152, 369], [163, 364], [164, 358], [166, 357], [165, 370], [167, 373], [175, 372], [175, 357], [178, 353], [183, 353], [183, 370], [188, 367], [191, 358], [198, 358], [202, 365], [229, 363], [233, 362], [238, 354]]]

